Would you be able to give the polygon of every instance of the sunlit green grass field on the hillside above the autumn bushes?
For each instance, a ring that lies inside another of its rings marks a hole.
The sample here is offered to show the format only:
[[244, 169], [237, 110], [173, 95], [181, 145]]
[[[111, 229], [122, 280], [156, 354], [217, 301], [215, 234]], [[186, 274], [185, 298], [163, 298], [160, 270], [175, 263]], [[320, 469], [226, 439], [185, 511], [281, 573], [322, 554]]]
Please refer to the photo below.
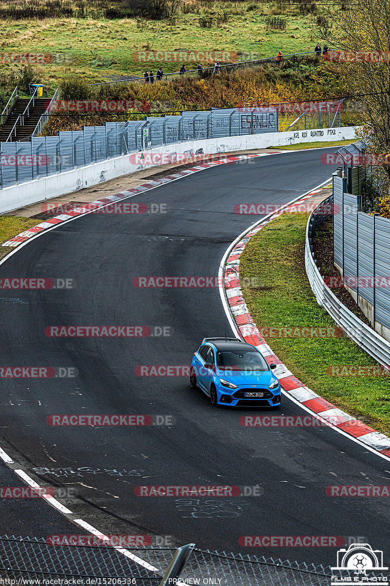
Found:
[[[73, 57], [71, 63], [36, 66], [42, 83], [52, 89], [58, 78], [80, 71], [88, 82], [102, 81], [112, 75], [142, 75], [146, 67], [156, 73], [160, 63], [134, 61], [133, 52], [139, 50], [225, 50], [253, 53], [251, 59], [274, 56], [279, 49], [284, 54], [313, 50], [316, 38], [310, 28], [310, 15], [282, 15], [287, 18], [287, 29], [267, 30], [265, 15], [272, 8], [259, 5], [256, 10], [246, 12], [249, 4], [240, 3], [240, 9], [236, 9], [239, 13], [227, 9], [229, 22], [212, 29], [199, 26], [203, 9], [199, 14], [179, 13], [175, 25], [168, 21], [146, 21], [143, 28], [137, 26], [136, 19], [7, 20], [0, 23], [2, 52], [65, 53]], [[161, 65], [165, 73], [180, 69], [180, 63]], [[186, 63], [187, 69], [189, 65]], [[7, 70], [7, 64], [0, 64], [0, 73]]]

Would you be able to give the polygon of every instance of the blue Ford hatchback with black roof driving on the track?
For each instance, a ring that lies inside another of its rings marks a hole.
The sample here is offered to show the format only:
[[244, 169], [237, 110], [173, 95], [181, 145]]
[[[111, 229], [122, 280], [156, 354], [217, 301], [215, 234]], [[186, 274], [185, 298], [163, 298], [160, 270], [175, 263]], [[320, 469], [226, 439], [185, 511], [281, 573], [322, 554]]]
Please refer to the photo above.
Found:
[[280, 407], [280, 383], [255, 346], [237, 338], [205, 338], [192, 358], [189, 383], [212, 405]]

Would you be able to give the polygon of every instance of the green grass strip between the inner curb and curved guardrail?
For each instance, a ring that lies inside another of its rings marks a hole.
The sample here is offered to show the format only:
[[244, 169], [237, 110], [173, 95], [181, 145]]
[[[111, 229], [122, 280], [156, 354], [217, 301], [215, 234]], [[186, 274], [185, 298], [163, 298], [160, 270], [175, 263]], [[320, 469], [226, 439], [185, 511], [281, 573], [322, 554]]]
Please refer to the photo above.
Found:
[[[306, 277], [304, 243], [307, 215], [272, 220], [250, 239], [240, 258], [240, 277], [257, 277], [267, 289], [243, 287], [258, 328], [334, 327], [317, 304]], [[244, 282], [244, 281], [243, 281]], [[250, 281], [246, 281], [250, 282]], [[310, 389], [376, 430], [390, 432], [390, 377], [331, 377], [332, 365], [375, 365], [348, 338], [270, 338], [279, 359]]]

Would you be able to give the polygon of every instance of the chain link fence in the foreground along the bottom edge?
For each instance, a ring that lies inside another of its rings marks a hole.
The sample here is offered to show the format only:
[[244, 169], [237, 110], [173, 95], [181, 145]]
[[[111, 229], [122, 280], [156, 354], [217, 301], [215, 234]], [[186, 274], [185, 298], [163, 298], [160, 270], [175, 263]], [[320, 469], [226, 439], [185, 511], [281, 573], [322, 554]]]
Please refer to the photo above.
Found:
[[[163, 547], [126, 550], [155, 567], [157, 571], [143, 567], [113, 547], [52, 546], [44, 538], [5, 535], [0, 537], [0, 578], [8, 578], [9, 581], [4, 581], [4, 584], [44, 584], [43, 580], [47, 578], [63, 579], [65, 584], [68, 578], [80, 578], [80, 584], [157, 586], [175, 551], [174, 548]], [[180, 581], [219, 586], [329, 586], [331, 576], [330, 567], [323, 565], [195, 549]], [[113, 581], [104, 581], [109, 578]], [[126, 582], [119, 581], [126, 579]], [[134, 581], [130, 581], [131, 579]], [[61, 581], [57, 583], [61, 584]]]

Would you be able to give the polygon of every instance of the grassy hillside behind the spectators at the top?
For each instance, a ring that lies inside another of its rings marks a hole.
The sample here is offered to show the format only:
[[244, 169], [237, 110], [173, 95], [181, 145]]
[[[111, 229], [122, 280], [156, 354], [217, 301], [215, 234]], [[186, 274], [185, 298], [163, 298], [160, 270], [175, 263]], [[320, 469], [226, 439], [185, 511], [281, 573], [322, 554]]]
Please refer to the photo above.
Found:
[[[29, 5], [34, 6], [34, 3], [29, 2]], [[111, 5], [104, 1], [81, 5], [82, 9], [80, 3], [71, 8], [71, 2], [65, 0], [49, 2], [43, 11], [46, 18], [41, 19], [19, 19], [31, 12], [23, 8], [26, 5], [11, 5], [12, 9], [7, 4], [0, 5], [2, 52], [54, 54], [54, 62], [34, 66], [36, 81], [41, 81], [49, 94], [57, 86], [58, 79], [79, 75], [80, 71], [88, 83], [123, 75], [140, 76], [146, 63], [137, 60], [139, 51], [218, 50], [238, 53], [237, 60], [244, 60], [274, 56], [279, 49], [284, 54], [305, 52], [313, 50], [317, 42], [316, 9], [313, 9], [314, 14], [304, 15], [301, 12], [307, 8], [303, 10], [299, 3], [290, 6], [272, 2], [195, 0], [182, 4], [171, 18], [162, 20], [99, 18], [99, 14], [109, 13]], [[106, 8], [99, 8], [100, 5]], [[126, 4], [113, 6], [116, 12], [112, 8], [111, 13], [114, 15], [129, 12]], [[77, 18], [64, 16], [69, 12], [77, 14]], [[56, 13], [63, 16], [51, 16]], [[285, 29], [270, 28], [272, 24], [267, 19], [275, 17], [279, 19], [278, 25]], [[210, 28], [203, 28], [205, 25]], [[61, 56], [57, 57], [58, 54]], [[164, 61], [147, 65], [156, 72], [160, 64], [166, 73], [180, 69], [180, 64]], [[186, 63], [187, 69], [191, 65], [196, 63]], [[5, 74], [16, 69], [17, 64], [0, 64], [3, 85]]]

